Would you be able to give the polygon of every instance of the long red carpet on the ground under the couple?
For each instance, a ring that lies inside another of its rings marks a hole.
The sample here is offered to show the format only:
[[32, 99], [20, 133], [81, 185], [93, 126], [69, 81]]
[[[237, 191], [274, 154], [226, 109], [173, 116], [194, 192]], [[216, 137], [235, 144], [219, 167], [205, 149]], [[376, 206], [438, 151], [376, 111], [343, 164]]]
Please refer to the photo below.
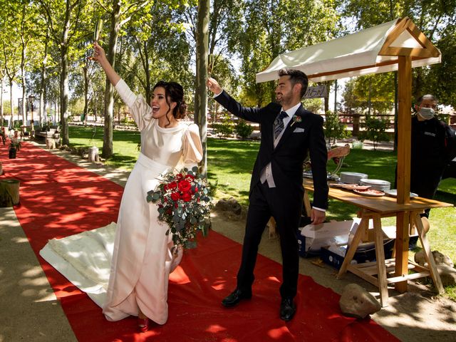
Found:
[[105, 321], [101, 309], [44, 261], [38, 252], [53, 237], [66, 237], [116, 221], [123, 188], [46, 150], [24, 143], [16, 160], [1, 145], [6, 175], [21, 180], [15, 207], [79, 341], [398, 341], [370, 319], [341, 315], [338, 294], [299, 277], [298, 311], [279, 319], [281, 265], [259, 256], [254, 297], [235, 309], [220, 301], [234, 289], [241, 246], [216, 232], [187, 251], [170, 277], [170, 315], [164, 326], [135, 333], [135, 318]]

